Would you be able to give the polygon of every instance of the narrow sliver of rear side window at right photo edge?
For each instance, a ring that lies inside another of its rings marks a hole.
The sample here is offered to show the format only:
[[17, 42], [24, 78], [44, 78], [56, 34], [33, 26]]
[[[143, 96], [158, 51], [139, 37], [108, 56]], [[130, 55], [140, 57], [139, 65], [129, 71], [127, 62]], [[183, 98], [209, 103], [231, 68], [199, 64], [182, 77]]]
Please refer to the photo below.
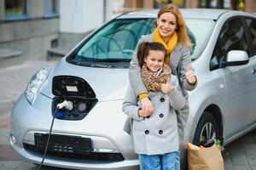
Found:
[[256, 20], [247, 19], [247, 28], [252, 41], [252, 53], [256, 54]]

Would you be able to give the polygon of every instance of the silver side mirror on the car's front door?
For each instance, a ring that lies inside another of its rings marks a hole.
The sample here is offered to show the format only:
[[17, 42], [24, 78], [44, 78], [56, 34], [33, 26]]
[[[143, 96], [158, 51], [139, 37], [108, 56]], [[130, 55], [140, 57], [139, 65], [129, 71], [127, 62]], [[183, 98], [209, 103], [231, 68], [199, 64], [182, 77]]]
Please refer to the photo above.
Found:
[[249, 62], [249, 57], [246, 51], [243, 50], [231, 50], [226, 57], [226, 60], [222, 59], [220, 61], [220, 67], [225, 66], [236, 66], [236, 65], [246, 65]]

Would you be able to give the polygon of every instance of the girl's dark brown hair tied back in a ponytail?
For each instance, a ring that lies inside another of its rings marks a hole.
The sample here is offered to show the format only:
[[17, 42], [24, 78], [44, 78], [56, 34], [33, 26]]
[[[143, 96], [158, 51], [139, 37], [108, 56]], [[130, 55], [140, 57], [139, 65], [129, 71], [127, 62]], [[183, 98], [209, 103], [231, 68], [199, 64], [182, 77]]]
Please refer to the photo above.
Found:
[[148, 56], [149, 50], [159, 50], [166, 54], [166, 48], [160, 42], [142, 42], [137, 47], [137, 59], [143, 67], [144, 59]]

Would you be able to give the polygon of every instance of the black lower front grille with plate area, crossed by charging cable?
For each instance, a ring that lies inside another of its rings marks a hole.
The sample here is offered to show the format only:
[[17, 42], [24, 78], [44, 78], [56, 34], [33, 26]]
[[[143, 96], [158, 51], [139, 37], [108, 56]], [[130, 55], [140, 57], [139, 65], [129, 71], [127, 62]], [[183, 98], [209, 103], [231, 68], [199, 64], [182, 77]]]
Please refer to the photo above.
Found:
[[[23, 143], [23, 146], [26, 150], [44, 154], [48, 136], [49, 134], [35, 133], [35, 145]], [[120, 153], [92, 152], [91, 150], [89, 138], [52, 134], [49, 140], [47, 155], [97, 161], [125, 160]]]

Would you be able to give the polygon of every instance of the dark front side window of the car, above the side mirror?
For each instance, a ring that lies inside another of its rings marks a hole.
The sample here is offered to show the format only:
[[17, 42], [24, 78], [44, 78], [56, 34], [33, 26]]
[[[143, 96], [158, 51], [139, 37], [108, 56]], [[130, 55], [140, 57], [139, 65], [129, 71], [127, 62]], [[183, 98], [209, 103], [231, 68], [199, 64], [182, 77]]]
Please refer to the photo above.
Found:
[[225, 59], [228, 52], [234, 49], [244, 50], [248, 53], [247, 38], [240, 18], [224, 23], [213, 50], [210, 70], [218, 69], [220, 59]]

